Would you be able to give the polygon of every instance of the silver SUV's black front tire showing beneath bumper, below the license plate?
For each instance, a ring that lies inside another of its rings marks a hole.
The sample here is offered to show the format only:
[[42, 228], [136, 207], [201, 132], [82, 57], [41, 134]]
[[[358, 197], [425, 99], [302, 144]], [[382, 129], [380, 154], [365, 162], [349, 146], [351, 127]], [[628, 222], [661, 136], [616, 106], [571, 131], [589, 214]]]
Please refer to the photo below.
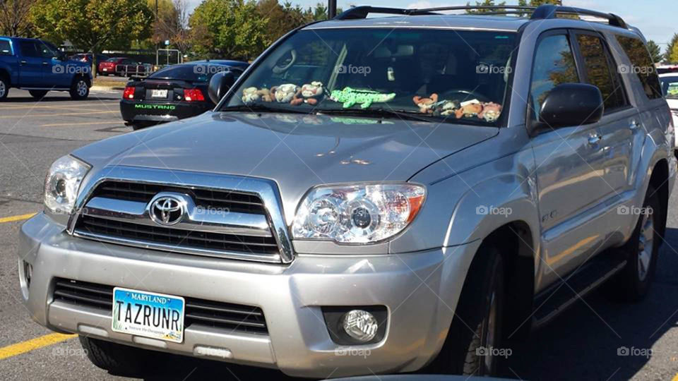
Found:
[[117, 374], [137, 374], [144, 368], [153, 368], [162, 353], [133, 346], [78, 336], [87, 358], [98, 368]]

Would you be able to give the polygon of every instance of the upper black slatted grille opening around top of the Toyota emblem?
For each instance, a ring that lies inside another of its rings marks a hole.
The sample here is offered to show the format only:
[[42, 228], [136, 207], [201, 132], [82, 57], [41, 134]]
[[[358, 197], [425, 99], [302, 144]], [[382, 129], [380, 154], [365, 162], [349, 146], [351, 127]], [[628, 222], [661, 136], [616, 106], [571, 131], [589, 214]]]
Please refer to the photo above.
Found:
[[95, 189], [92, 197], [114, 198], [138, 202], [150, 202], [160, 192], [186, 193], [193, 198], [196, 206], [205, 209], [228, 210], [230, 212], [265, 214], [261, 198], [257, 195], [233, 191], [193, 189], [165, 186], [161, 184], [131, 183], [126, 181], [104, 181]]

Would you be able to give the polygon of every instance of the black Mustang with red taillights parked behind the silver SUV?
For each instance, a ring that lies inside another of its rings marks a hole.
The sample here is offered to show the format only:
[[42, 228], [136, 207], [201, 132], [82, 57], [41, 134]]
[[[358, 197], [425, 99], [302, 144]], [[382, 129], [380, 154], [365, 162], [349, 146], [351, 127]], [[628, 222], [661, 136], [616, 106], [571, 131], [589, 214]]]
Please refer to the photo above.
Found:
[[249, 63], [194, 61], [167, 66], [147, 78], [127, 83], [120, 101], [122, 119], [133, 129], [203, 114], [215, 107], [207, 94], [215, 73], [230, 71], [237, 78]]

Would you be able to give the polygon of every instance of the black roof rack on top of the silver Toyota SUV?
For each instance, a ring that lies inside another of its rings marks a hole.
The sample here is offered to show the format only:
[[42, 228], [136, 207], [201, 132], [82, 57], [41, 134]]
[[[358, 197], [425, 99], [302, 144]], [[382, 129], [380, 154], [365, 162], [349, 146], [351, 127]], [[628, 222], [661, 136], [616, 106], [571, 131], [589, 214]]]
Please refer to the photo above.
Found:
[[421, 9], [405, 9], [405, 8], [386, 8], [375, 6], [356, 6], [349, 8], [340, 15], [335, 17], [335, 20], [355, 20], [360, 18], [367, 18], [370, 13], [381, 13], [400, 16], [422, 16], [422, 15], [439, 15], [440, 11], [480, 11], [483, 16], [495, 15], [524, 15], [532, 13], [530, 20], [547, 20], [557, 18], [558, 14], [569, 14], [577, 16], [593, 16], [596, 18], [603, 18], [608, 21], [609, 25], [619, 28], [628, 29], [628, 25], [624, 20], [614, 13], [604, 13], [598, 11], [590, 11], [583, 8], [575, 8], [572, 6], [441, 6], [436, 8], [421, 8]]

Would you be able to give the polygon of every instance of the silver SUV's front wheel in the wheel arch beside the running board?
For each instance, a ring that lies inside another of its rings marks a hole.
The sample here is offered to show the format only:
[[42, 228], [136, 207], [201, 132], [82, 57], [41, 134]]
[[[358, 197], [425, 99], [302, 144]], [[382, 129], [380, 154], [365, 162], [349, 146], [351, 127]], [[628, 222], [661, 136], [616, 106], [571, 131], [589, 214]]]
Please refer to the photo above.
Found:
[[443, 349], [427, 371], [497, 374], [505, 300], [504, 263], [496, 248], [482, 248], [468, 274]]

